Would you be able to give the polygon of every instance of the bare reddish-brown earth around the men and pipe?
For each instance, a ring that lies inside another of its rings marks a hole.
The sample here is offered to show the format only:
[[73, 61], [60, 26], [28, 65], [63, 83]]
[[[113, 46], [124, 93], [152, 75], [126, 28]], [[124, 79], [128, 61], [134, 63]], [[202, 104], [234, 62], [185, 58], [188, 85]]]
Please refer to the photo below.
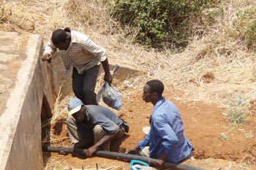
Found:
[[[164, 93], [164, 96], [178, 107], [184, 122], [184, 134], [195, 147], [193, 152], [195, 160], [188, 160], [184, 164], [202, 169], [256, 169], [254, 107], [252, 107], [253, 112], [248, 115], [248, 122], [242, 126], [235, 126], [225, 119], [225, 115], [222, 115], [224, 109], [218, 106], [203, 104], [203, 102], [176, 101], [172, 93]], [[175, 96], [178, 94], [176, 93]], [[142, 100], [140, 92], [123, 99], [121, 112], [117, 114], [127, 120], [130, 131], [124, 136], [119, 147], [120, 152], [133, 147], [143, 139], [142, 128], [148, 125], [151, 109], [152, 105]], [[57, 139], [67, 136], [65, 124], [62, 121], [53, 125], [51, 131], [54, 131], [56, 134], [54, 137]], [[68, 146], [69, 140], [65, 140], [63, 144]], [[116, 147], [118, 147], [118, 142], [116, 142]], [[63, 167], [69, 166], [72, 169], [82, 169], [82, 167], [96, 169], [96, 164], [99, 169], [129, 169], [129, 163], [122, 161], [107, 158], [82, 159], [57, 153], [51, 153], [51, 155], [44, 153], [45, 165], [50, 163], [46, 161], [49, 156], [55, 163], [62, 164]]]

